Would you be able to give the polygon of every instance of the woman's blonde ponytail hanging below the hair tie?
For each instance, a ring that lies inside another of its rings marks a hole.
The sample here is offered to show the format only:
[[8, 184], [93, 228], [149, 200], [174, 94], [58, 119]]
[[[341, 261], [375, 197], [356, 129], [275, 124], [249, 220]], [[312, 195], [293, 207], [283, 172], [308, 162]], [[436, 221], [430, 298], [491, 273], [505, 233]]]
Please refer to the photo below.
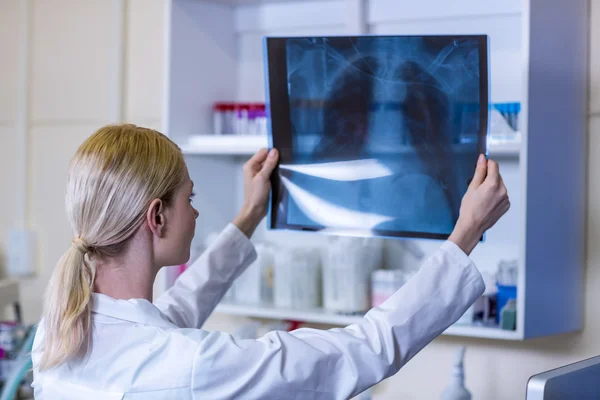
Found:
[[95, 270], [86, 260], [88, 253], [88, 245], [81, 238], [74, 239], [50, 278], [44, 303], [40, 370], [77, 357], [90, 344]]

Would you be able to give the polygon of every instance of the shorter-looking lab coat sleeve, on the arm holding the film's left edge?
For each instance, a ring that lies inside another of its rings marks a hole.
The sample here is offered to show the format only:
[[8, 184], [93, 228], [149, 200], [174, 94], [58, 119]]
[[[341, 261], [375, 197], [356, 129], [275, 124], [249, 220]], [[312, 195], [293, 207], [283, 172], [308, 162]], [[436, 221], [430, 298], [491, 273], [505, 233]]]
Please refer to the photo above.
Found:
[[155, 305], [180, 328], [200, 328], [232, 282], [256, 259], [250, 240], [229, 224]]

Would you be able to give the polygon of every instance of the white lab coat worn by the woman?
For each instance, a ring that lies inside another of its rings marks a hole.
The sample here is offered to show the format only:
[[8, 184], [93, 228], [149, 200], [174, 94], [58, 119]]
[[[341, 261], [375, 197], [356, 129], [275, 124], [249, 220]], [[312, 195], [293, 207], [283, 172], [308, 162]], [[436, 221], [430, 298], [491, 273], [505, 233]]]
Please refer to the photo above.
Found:
[[358, 324], [258, 340], [202, 330], [255, 257], [250, 241], [228, 225], [155, 304], [94, 294], [87, 357], [46, 372], [37, 368], [41, 321], [36, 399], [347, 399], [395, 374], [484, 291], [474, 264], [446, 242]]

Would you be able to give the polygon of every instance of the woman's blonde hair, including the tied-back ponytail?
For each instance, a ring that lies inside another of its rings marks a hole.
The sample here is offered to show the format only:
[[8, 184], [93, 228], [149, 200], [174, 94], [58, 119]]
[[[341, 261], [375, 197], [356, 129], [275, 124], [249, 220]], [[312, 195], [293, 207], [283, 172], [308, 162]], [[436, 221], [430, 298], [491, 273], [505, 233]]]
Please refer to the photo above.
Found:
[[160, 132], [110, 125], [71, 160], [66, 207], [74, 232], [46, 291], [40, 370], [84, 356], [90, 345], [94, 259], [120, 254], [153, 199], [172, 201], [183, 180], [181, 150]]

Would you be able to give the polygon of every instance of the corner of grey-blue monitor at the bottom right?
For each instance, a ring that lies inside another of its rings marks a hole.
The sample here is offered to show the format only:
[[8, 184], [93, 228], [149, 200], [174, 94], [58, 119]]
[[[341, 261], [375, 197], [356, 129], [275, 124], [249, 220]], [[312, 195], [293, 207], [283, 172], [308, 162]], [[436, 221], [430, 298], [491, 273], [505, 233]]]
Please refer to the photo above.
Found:
[[600, 399], [600, 356], [534, 375], [527, 400]]

